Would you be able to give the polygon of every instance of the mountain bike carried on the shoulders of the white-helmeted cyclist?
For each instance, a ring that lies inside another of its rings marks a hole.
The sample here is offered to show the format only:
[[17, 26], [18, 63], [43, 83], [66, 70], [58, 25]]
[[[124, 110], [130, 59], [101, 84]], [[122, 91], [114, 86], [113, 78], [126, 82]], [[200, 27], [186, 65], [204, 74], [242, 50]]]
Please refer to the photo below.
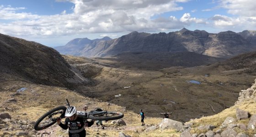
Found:
[[[69, 100], [66, 99], [66, 105], [69, 107]], [[58, 118], [65, 117], [66, 106], [59, 106], [53, 108], [52, 110], [46, 112], [43, 116], [41, 116], [35, 123], [34, 129], [39, 131], [52, 126], [54, 123], [57, 122]], [[97, 109], [96, 111], [77, 111], [76, 112], [78, 117], [81, 117], [85, 120], [99, 120], [99, 121], [110, 121], [110, 120], [117, 120], [123, 118], [123, 113], [116, 112], [116, 111], [102, 111], [101, 109]]]

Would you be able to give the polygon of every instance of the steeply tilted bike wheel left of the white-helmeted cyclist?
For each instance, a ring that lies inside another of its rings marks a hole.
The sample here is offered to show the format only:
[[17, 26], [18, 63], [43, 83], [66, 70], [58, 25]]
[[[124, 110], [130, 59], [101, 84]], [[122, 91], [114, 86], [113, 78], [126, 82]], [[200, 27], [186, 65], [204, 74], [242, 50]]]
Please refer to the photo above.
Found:
[[64, 117], [66, 109], [67, 108], [65, 106], [59, 106], [46, 112], [36, 121], [34, 129], [39, 131], [46, 129], [49, 126], [52, 126], [54, 123], [56, 123], [57, 117]]

